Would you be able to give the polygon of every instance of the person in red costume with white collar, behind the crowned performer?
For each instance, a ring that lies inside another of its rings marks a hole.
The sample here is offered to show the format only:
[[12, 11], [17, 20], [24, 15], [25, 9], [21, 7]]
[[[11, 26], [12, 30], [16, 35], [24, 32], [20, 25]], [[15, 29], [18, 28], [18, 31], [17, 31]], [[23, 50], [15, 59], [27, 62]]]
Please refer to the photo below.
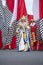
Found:
[[31, 27], [31, 45], [34, 45], [34, 42], [36, 42], [36, 23], [34, 21], [34, 19], [30, 20], [30, 27]]

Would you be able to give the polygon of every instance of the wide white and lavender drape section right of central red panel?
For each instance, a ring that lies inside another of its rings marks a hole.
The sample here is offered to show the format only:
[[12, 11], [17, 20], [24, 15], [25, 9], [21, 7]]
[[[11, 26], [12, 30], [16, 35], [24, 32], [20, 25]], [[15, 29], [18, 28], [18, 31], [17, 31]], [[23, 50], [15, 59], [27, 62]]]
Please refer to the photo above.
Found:
[[39, 0], [25, 0], [27, 14], [33, 15], [34, 19], [39, 19]]

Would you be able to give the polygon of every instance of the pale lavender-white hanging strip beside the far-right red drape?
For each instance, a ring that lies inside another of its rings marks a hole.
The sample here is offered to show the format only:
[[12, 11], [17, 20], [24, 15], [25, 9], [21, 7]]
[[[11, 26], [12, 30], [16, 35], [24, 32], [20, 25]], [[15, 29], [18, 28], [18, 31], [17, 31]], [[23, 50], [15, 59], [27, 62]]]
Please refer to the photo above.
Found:
[[33, 16], [35, 20], [39, 19], [39, 0], [33, 1]]

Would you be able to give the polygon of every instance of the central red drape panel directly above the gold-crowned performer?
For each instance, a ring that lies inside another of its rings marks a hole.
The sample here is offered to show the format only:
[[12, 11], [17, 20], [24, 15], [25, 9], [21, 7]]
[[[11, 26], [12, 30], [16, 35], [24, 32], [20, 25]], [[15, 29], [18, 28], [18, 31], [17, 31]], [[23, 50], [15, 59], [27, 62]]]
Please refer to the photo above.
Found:
[[26, 11], [26, 6], [25, 6], [25, 1], [18, 0], [17, 20], [26, 14], [27, 14], [27, 11]]

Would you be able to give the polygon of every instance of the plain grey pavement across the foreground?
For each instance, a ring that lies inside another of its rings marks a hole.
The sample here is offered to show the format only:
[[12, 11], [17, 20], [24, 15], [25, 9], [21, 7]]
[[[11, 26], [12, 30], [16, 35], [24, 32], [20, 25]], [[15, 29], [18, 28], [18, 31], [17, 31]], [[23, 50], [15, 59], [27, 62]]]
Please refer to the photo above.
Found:
[[43, 51], [0, 50], [0, 65], [43, 65]]

